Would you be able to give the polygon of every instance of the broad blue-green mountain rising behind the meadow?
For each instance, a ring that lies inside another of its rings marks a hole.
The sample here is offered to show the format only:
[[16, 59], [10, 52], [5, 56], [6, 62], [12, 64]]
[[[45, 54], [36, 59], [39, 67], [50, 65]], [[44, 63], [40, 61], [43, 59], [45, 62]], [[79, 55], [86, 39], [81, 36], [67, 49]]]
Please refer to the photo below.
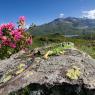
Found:
[[32, 35], [64, 34], [64, 35], [88, 35], [95, 33], [95, 19], [87, 18], [57, 18], [52, 22], [40, 26], [30, 27], [28, 31]]

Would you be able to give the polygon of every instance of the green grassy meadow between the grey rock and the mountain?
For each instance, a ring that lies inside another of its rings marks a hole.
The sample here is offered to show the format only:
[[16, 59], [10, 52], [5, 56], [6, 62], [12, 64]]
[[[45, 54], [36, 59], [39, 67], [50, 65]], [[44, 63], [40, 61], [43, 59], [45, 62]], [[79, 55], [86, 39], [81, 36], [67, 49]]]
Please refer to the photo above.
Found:
[[60, 34], [51, 34], [44, 36], [33, 36], [32, 48], [46, 46], [51, 43], [73, 42], [75, 47], [87, 52], [95, 58], [95, 40], [87, 40], [81, 38], [66, 38]]

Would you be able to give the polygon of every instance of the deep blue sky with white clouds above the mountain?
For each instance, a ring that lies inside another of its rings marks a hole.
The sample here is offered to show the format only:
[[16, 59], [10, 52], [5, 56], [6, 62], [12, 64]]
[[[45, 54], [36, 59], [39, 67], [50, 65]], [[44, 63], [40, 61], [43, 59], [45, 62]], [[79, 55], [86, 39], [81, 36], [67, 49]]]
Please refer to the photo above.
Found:
[[0, 0], [0, 24], [25, 16], [27, 26], [63, 17], [95, 19], [95, 0]]

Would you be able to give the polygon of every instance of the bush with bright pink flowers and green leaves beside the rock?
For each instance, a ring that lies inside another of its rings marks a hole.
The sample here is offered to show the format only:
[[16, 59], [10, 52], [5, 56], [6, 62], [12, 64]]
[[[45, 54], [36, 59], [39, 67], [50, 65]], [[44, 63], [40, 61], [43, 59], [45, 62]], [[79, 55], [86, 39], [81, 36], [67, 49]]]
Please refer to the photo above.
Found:
[[32, 36], [25, 32], [25, 17], [19, 17], [18, 28], [13, 23], [0, 25], [0, 58], [10, 57], [32, 44]]

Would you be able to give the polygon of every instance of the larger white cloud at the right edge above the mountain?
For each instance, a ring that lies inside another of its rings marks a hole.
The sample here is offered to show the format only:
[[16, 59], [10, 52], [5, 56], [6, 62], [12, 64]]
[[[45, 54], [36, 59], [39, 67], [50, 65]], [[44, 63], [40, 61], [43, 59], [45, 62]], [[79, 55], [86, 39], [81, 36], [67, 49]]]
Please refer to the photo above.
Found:
[[89, 11], [83, 11], [82, 17], [89, 18], [89, 19], [95, 19], [95, 9], [89, 10]]

